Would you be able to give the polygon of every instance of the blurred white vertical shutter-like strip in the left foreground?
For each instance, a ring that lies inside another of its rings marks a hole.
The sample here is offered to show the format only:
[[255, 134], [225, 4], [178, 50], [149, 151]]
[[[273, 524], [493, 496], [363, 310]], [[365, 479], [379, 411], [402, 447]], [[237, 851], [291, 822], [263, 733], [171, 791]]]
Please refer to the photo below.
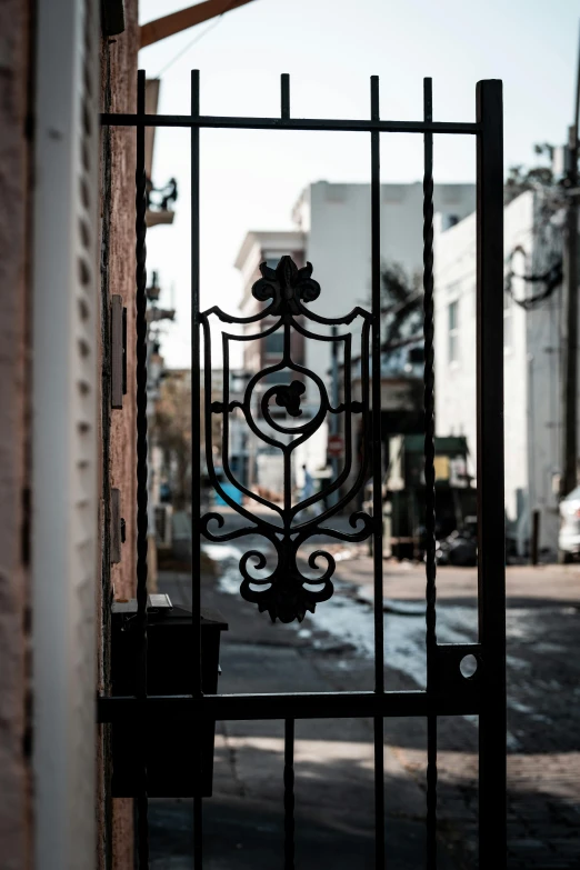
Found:
[[[42, 0], [36, 34], [33, 866], [91, 870], [100, 583], [98, 7], [83, 0]], [[83, 123], [83, 112], [90, 124]], [[79, 231], [81, 221], [86, 233]]]

